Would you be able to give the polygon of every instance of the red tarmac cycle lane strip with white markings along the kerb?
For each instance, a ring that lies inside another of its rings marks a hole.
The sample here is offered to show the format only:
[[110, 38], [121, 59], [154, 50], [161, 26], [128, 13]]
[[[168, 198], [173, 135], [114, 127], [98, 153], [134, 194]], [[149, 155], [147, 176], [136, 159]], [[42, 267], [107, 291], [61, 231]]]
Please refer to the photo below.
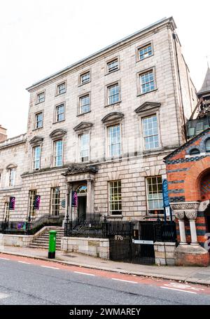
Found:
[[30, 257], [20, 257], [13, 254], [3, 254], [0, 253], [0, 260], [9, 260], [13, 262], [20, 262], [22, 264], [31, 264], [36, 266], [41, 266], [49, 269], [55, 269], [57, 271], [71, 271], [74, 273], [80, 273], [86, 276], [100, 276], [104, 278], [109, 278], [112, 280], [117, 280], [125, 283], [130, 283], [137, 285], [139, 283], [144, 285], [155, 285], [165, 290], [175, 290], [179, 292], [186, 292], [190, 294], [210, 294], [210, 288], [204, 285], [179, 283], [172, 280], [164, 280], [158, 278], [146, 278], [141, 276], [127, 275], [123, 273], [115, 273], [111, 271], [102, 271], [99, 269], [89, 269], [80, 266], [71, 266], [66, 264], [61, 264], [58, 262], [48, 262], [41, 259], [33, 259]]

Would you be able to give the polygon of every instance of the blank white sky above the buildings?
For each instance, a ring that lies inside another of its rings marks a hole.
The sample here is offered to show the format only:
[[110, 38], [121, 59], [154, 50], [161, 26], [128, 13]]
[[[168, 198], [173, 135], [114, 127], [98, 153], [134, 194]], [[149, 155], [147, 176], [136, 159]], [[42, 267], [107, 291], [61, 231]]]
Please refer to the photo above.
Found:
[[197, 90], [210, 65], [209, 0], [0, 0], [0, 124], [26, 133], [25, 88], [173, 16]]

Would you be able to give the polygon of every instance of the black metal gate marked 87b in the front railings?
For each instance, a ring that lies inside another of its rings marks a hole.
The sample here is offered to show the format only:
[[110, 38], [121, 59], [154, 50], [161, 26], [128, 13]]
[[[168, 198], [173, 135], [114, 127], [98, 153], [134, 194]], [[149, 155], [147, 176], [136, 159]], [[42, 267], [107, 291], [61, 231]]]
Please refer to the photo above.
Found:
[[110, 259], [155, 264], [155, 234], [153, 222], [116, 222], [109, 237]]

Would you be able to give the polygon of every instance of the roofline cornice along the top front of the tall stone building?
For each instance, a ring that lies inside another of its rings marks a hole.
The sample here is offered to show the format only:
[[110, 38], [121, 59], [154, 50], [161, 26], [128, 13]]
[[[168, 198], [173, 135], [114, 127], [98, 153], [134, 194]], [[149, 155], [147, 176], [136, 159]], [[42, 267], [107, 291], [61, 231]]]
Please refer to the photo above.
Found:
[[44, 79], [41, 79], [40, 81], [33, 83], [31, 86], [26, 88], [26, 90], [30, 90], [31, 88], [34, 88], [35, 86], [38, 86], [39, 84], [41, 84], [41, 83], [43, 83], [45, 81], [48, 81], [53, 76], [57, 76], [57, 75], [61, 74], [62, 72], [68, 71], [69, 69], [71, 69], [73, 67], [76, 67], [77, 65], [80, 65], [80, 63], [85, 62], [86, 60], [94, 57], [95, 55], [99, 55], [100, 53], [103, 53], [104, 51], [109, 50], [109, 49], [113, 48], [114, 46], [117, 46], [118, 44], [120, 44], [123, 41], [127, 41], [129, 39], [132, 39], [132, 37], [137, 36], [137, 34], [140, 34], [141, 32], [144, 32], [147, 29], [151, 29], [152, 27], [155, 27], [155, 25], [159, 25], [160, 23], [165, 22], [167, 20], [172, 21], [174, 23], [174, 28], [176, 28], [176, 23], [174, 22], [174, 19], [173, 19], [172, 16], [169, 17], [169, 18], [166, 18], [166, 17], [162, 18], [162, 19], [152, 23], [151, 25], [148, 25], [147, 27], [144, 27], [143, 29], [140, 29], [139, 31], [134, 32], [133, 34], [130, 34], [129, 36], [125, 36], [125, 38], [120, 39], [119, 41], [116, 41], [116, 42], [112, 43], [111, 45], [106, 46], [106, 47], [102, 48], [101, 50], [99, 50], [99, 51], [97, 51], [95, 53], [92, 53], [91, 55], [88, 55], [87, 57], [84, 57], [81, 60], [78, 60], [77, 62], [74, 62], [72, 65], [69, 65], [68, 67], [65, 67], [64, 69], [60, 69], [58, 72], [55, 72], [55, 73], [51, 74], [50, 76], [47, 76]]

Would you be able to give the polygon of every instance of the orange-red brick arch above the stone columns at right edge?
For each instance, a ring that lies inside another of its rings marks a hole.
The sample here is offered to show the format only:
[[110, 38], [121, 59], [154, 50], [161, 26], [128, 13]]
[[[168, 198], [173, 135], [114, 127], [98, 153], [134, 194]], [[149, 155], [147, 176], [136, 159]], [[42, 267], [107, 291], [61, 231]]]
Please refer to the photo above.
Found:
[[195, 162], [188, 170], [184, 182], [186, 201], [202, 201], [200, 182], [204, 175], [210, 174], [210, 157]]

